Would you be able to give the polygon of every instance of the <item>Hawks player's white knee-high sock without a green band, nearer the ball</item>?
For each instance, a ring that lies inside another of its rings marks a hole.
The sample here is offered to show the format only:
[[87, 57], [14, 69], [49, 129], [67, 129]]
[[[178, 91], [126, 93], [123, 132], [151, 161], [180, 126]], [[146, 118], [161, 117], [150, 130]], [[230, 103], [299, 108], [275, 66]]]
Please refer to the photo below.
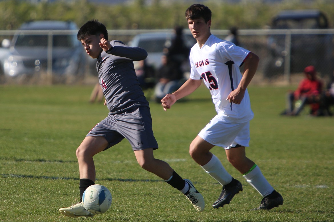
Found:
[[232, 176], [225, 170], [220, 160], [215, 155], [212, 155], [211, 160], [201, 167], [222, 186], [232, 181]]

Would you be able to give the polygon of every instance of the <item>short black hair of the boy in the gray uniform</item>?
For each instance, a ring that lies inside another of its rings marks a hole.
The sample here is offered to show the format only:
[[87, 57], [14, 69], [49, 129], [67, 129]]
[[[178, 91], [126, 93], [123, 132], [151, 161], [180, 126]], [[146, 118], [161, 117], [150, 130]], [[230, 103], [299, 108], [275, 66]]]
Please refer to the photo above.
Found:
[[100, 34], [103, 34], [104, 38], [108, 40], [108, 31], [106, 26], [95, 19], [88, 21], [81, 26], [76, 37], [78, 40], [84, 40], [87, 36]]

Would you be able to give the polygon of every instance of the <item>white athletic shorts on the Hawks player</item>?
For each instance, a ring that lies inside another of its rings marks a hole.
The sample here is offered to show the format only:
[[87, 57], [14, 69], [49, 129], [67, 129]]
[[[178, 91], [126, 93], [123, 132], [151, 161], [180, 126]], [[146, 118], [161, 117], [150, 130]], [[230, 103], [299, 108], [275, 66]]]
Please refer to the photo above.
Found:
[[236, 145], [249, 146], [249, 121], [226, 123], [219, 117], [213, 119], [198, 133], [203, 140], [215, 146], [229, 149]]

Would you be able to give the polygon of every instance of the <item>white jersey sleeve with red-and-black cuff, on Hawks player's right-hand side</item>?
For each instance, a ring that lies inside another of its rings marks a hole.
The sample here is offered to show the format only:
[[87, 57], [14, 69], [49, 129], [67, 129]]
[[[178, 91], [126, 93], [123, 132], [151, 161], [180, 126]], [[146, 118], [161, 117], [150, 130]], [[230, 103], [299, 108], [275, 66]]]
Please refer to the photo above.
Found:
[[227, 41], [218, 43], [216, 50], [222, 60], [231, 60], [238, 66], [242, 65], [243, 61], [250, 52], [247, 49], [236, 46], [235, 44]]

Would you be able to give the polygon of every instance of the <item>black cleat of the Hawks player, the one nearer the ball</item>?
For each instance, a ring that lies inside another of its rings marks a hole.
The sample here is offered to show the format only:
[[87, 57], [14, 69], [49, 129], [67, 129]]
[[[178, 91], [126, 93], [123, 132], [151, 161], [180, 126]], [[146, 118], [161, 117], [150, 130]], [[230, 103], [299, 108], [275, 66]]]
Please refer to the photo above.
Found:
[[223, 186], [220, 196], [212, 204], [212, 207], [218, 209], [219, 207], [223, 207], [225, 204], [229, 204], [234, 195], [240, 191], [242, 191], [242, 184], [240, 181], [233, 178], [229, 184]]

